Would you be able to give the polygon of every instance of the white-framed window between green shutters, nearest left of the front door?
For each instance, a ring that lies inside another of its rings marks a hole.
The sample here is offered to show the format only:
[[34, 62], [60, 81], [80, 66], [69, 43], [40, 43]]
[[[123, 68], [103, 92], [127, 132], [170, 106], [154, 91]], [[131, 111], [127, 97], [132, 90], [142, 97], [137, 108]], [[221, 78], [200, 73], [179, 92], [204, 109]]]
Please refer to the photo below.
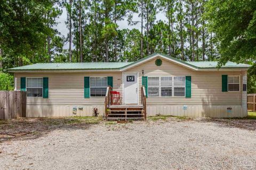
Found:
[[104, 97], [107, 92], [107, 77], [90, 77], [90, 96]]

